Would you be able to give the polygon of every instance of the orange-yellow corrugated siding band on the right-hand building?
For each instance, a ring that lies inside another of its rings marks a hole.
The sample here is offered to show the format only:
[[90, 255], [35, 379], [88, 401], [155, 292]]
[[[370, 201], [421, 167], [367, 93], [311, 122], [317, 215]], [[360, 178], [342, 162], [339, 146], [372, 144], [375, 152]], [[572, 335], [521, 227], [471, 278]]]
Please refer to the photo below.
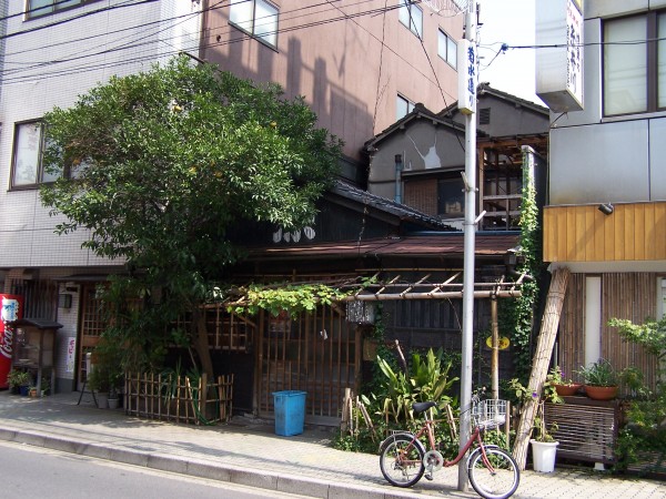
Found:
[[544, 208], [545, 262], [666, 259], [666, 202]]

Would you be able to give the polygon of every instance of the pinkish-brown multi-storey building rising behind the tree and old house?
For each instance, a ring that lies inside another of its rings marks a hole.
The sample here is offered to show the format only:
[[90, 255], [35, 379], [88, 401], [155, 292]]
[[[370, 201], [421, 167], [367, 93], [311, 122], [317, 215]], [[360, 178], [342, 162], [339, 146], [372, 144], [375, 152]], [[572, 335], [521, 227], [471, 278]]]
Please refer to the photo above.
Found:
[[440, 111], [457, 100], [464, 12], [453, 1], [440, 11], [404, 0], [229, 3], [205, 9], [200, 57], [303, 95], [345, 142], [344, 175], [359, 184], [365, 141], [416, 103]]

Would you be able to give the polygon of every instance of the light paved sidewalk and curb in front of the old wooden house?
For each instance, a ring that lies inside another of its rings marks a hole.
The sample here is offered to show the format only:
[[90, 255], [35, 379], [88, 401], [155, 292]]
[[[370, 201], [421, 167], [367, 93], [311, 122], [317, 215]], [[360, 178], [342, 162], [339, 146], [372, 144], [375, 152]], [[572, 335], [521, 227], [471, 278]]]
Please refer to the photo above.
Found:
[[[98, 409], [90, 395], [42, 399], [0, 391], [0, 439], [149, 468], [321, 498], [477, 497], [457, 490], [457, 467], [411, 489], [391, 487], [379, 457], [330, 446], [327, 430], [280, 437], [265, 422], [184, 426]], [[614, 478], [592, 470], [526, 470], [515, 498], [665, 498], [666, 482]]]

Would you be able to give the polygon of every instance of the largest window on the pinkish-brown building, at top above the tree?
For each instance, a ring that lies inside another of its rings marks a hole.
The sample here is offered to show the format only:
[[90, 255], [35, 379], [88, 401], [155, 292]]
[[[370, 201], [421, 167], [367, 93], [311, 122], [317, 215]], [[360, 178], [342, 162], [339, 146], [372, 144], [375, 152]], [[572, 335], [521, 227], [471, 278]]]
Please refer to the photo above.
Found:
[[229, 20], [271, 47], [278, 47], [276, 7], [264, 0], [232, 0]]

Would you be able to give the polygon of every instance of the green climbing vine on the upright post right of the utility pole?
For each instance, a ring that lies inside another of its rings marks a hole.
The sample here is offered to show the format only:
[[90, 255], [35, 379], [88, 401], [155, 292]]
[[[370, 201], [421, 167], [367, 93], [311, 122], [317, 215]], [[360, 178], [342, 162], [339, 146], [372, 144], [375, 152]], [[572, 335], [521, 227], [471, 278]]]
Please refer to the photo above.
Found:
[[[525, 153], [523, 153], [525, 155]], [[531, 339], [534, 315], [538, 301], [538, 283], [544, 264], [541, 259], [542, 231], [536, 205], [534, 182], [523, 174], [523, 198], [521, 202], [521, 252], [522, 261], [516, 266], [518, 273], [533, 277], [521, 287], [521, 296], [505, 299], [500, 305], [500, 326], [511, 338], [514, 354], [514, 374], [526, 380], [532, 368]]]

